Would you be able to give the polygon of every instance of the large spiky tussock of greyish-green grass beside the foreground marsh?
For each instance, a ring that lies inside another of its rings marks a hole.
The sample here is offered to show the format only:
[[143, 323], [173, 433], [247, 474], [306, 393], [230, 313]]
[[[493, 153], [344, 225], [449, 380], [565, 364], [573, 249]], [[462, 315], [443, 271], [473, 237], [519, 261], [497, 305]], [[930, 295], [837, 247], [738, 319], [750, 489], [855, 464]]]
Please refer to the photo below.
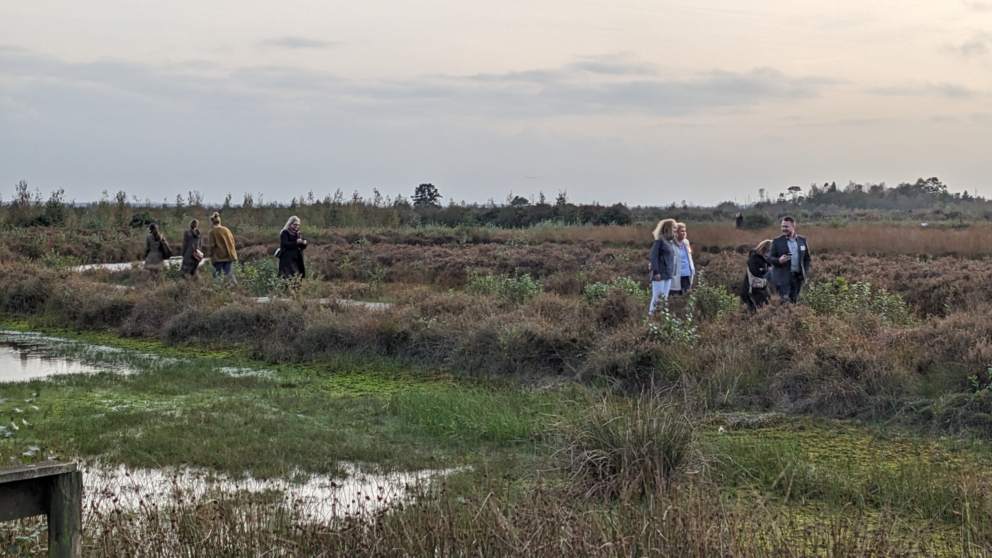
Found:
[[691, 461], [688, 418], [658, 396], [608, 398], [558, 430], [563, 467], [587, 494], [634, 495], [664, 490]]

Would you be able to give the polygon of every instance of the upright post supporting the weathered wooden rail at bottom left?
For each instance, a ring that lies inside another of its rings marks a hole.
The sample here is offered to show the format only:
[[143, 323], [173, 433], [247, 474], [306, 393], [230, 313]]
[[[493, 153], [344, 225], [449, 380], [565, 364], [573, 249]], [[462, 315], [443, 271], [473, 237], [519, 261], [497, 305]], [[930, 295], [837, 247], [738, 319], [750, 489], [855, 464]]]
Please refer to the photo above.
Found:
[[52, 478], [49, 490], [49, 556], [82, 555], [82, 472]]

